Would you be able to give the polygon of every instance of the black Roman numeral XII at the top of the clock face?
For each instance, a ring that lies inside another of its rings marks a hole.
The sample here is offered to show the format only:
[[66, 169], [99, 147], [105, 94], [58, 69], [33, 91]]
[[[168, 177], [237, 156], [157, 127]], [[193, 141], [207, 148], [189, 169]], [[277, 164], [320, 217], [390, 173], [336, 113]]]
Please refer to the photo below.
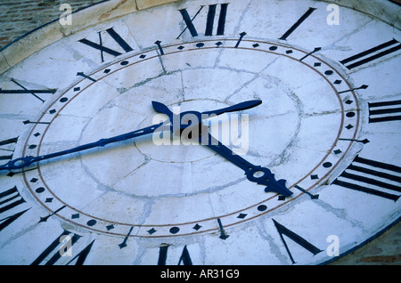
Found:
[[[220, 13], [218, 15], [218, 20], [217, 20], [217, 36], [224, 36], [225, 34], [225, 18], [227, 15], [227, 7], [228, 4], [220, 4]], [[193, 20], [196, 19], [196, 17], [199, 15], [199, 13], [203, 10], [204, 6], [202, 5], [201, 8], [196, 12], [196, 14], [193, 16], [191, 19], [189, 13], [186, 11], [186, 9], [178, 10], [185, 22], [186, 28], [181, 32], [179, 36], [176, 37], [178, 39], [180, 36], [183, 35], [184, 31], [186, 29], [189, 30], [191, 33], [191, 36], [198, 36], [198, 31], [196, 30], [195, 26], [193, 25]], [[217, 4], [210, 4], [209, 5], [209, 11], [208, 11], [208, 17], [206, 20], [206, 29], [205, 29], [205, 36], [212, 36], [213, 35], [213, 27], [215, 24], [215, 19], [216, 19], [216, 13], [217, 13]]]

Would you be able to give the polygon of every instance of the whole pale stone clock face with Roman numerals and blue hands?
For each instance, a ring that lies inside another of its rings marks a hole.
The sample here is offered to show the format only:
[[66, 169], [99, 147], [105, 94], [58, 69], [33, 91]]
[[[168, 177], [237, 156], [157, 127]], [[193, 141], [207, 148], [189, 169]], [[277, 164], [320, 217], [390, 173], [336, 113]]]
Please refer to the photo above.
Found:
[[315, 1], [120, 9], [0, 77], [1, 263], [327, 263], [398, 220], [397, 28]]

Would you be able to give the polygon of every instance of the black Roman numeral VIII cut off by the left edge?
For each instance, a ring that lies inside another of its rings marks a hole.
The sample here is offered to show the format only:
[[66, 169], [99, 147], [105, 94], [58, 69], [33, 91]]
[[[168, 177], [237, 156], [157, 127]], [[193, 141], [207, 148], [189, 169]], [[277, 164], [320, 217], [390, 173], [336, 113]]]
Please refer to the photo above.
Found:
[[29, 210], [29, 208], [26, 210], [21, 210], [16, 214], [8, 215], [3, 218], [3, 215], [7, 211], [16, 206], [20, 206], [23, 203], [25, 203], [25, 200], [20, 196], [20, 192], [17, 190], [17, 187], [13, 187], [10, 190], [5, 190], [0, 193], [0, 214], [2, 214], [2, 216], [0, 216], [0, 231], [4, 230], [5, 227], [17, 220], [20, 215]]

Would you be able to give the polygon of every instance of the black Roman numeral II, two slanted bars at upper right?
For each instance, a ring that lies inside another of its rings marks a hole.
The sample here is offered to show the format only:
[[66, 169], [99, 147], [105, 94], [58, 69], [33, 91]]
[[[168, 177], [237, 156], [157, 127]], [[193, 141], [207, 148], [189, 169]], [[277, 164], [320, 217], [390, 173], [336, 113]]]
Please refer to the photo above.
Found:
[[[354, 69], [370, 61], [379, 59], [389, 53], [395, 53], [401, 49], [401, 44], [396, 39], [391, 39], [384, 44], [379, 44], [362, 53], [358, 53], [340, 61], [347, 69]], [[359, 61], [358, 61], [359, 60]], [[349, 64], [348, 64], [349, 63]]]

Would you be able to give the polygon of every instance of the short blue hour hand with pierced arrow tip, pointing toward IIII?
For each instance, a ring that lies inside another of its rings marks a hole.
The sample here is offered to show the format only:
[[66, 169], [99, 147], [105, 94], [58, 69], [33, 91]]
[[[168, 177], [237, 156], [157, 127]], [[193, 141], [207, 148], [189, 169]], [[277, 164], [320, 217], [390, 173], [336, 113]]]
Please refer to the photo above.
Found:
[[[248, 180], [250, 182], [257, 182], [260, 185], [265, 185], [265, 191], [274, 191], [279, 194], [282, 194], [285, 197], [291, 196], [292, 191], [288, 190], [285, 186], [285, 180], [274, 179], [274, 174], [262, 166], [255, 166], [251, 164], [249, 161], [241, 158], [240, 156], [233, 153], [232, 150], [228, 149], [223, 143], [218, 142], [214, 137], [209, 134], [208, 142], [202, 143], [209, 147], [209, 149], [216, 151], [219, 155], [226, 158], [228, 161], [232, 162], [234, 165], [240, 167], [246, 174]], [[200, 142], [202, 141], [200, 137]]]

